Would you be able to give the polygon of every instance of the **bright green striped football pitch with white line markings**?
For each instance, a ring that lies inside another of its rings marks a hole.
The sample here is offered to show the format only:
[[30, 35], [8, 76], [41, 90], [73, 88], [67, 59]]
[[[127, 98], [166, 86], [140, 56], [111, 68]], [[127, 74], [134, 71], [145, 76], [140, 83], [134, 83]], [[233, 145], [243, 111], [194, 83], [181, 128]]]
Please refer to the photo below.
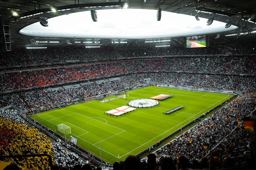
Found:
[[[77, 145], [109, 163], [123, 161], [128, 155], [137, 155], [184, 125], [195, 120], [233, 95], [167, 87], [145, 87], [127, 92], [126, 98], [109, 102], [89, 100], [66, 108], [35, 115], [35, 119], [52, 130], [57, 124], [68, 125], [77, 138]], [[105, 114], [136, 99], [148, 99], [159, 94], [174, 95], [152, 108], [138, 108], [122, 116]], [[163, 112], [185, 106], [170, 115]]]

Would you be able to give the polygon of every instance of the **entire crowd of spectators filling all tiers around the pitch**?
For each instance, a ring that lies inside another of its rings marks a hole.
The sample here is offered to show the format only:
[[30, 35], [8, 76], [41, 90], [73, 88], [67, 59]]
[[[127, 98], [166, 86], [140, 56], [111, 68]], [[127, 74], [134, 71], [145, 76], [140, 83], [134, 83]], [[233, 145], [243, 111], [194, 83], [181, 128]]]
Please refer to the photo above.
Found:
[[[1, 91], [26, 89], [10, 92], [0, 96], [0, 107], [10, 104], [27, 112], [40, 112], [58, 106], [69, 105], [85, 98], [110, 93], [117, 90], [129, 90], [147, 84], [150, 79], [154, 84], [187, 86], [211, 90], [239, 91], [241, 96], [225, 105], [198, 125], [182, 132], [181, 136], [155, 152], [156, 161], [162, 157], [185, 155], [193, 169], [199, 165], [215, 146], [221, 153], [218, 156], [233, 156], [234, 148], [251, 148], [252, 134], [245, 131], [242, 123], [236, 128], [243, 117], [250, 117], [256, 105], [256, 88], [254, 75], [256, 62], [254, 56], [204, 56], [191, 55], [226, 54], [230, 49], [215, 45], [208, 48], [184, 49], [136, 49], [118, 50], [122, 57], [148, 57], [168, 55], [189, 55], [189, 57], [167, 57], [158, 59], [126, 60], [111, 64], [74, 66], [58, 69], [5, 73], [0, 75]], [[253, 46], [237, 45], [233, 54], [255, 53]], [[0, 65], [28, 65], [39, 63], [57, 63], [67, 61], [110, 60], [115, 58], [108, 50], [84, 49], [42, 49], [2, 53]], [[11, 58], [11, 59], [10, 59]], [[126, 73], [116, 78], [105, 78]], [[221, 74], [215, 74], [221, 73]], [[236, 73], [236, 75], [231, 75]], [[90, 80], [104, 78], [100, 80]], [[86, 81], [88, 80], [88, 81]], [[79, 81], [79, 82], [77, 82]], [[43, 87], [57, 83], [69, 83], [53, 87]], [[70, 84], [72, 83], [72, 84]], [[0, 109], [0, 142], [1, 155], [48, 153], [54, 158], [54, 164], [68, 169], [76, 164], [88, 165], [88, 160], [81, 159], [77, 154], [63, 147], [62, 140], [50, 140], [39, 129], [29, 125], [21, 115], [9, 109]], [[235, 129], [236, 128], [236, 129]], [[233, 130], [233, 131], [232, 131]], [[232, 132], [231, 132], [232, 131]], [[223, 139], [223, 140], [222, 140]], [[216, 149], [216, 148], [215, 148]], [[244, 158], [243, 154], [240, 154]], [[134, 160], [135, 157], [129, 157]], [[233, 158], [236, 162], [237, 158]], [[128, 159], [129, 160], [129, 159]], [[127, 160], [127, 162], [128, 162]], [[48, 169], [43, 158], [15, 159], [22, 169]], [[162, 165], [162, 163], [161, 163]], [[125, 168], [126, 165], [124, 165]], [[128, 166], [128, 164], [127, 164]], [[132, 166], [131, 166], [132, 167]], [[142, 166], [140, 165], [142, 168]], [[206, 167], [209, 167], [207, 164]], [[159, 168], [159, 167], [158, 167]], [[161, 167], [163, 169], [163, 167]]]

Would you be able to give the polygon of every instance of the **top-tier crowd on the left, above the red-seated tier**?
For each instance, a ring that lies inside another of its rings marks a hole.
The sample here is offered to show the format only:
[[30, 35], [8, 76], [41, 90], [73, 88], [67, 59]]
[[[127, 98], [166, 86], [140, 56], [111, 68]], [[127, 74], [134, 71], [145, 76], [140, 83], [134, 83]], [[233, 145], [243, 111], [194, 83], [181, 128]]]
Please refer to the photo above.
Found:
[[115, 55], [111, 50], [84, 48], [50, 48], [27, 49], [19, 52], [1, 53], [0, 66], [18, 66], [60, 63], [71, 61], [113, 60]]

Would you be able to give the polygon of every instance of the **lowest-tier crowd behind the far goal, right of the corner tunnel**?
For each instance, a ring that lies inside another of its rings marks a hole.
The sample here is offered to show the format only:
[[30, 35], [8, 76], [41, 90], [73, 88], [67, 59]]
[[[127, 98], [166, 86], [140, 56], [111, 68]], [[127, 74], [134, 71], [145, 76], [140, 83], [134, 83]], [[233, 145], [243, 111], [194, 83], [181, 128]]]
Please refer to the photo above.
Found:
[[212, 90], [255, 91], [256, 80], [250, 76], [196, 73], [143, 73], [154, 84], [188, 86]]

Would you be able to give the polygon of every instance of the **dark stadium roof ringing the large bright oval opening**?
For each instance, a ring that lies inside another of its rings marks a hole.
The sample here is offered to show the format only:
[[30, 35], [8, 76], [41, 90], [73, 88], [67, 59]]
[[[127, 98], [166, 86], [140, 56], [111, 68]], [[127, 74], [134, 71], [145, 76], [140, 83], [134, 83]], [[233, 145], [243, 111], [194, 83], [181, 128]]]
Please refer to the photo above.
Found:
[[[47, 47], [84, 47], [84, 43], [78, 42], [93, 42], [88, 45], [96, 45], [102, 48], [144, 48], [144, 47], [155, 47], [156, 43], [166, 44], [169, 42], [171, 46], [183, 46], [185, 43], [185, 35], [179, 35], [172, 38], [164, 37], [133, 37], [128, 39], [126, 37], [110, 39], [101, 38], [97, 36], [77, 38], [77, 37], [38, 37], [38, 36], [27, 36], [22, 35], [19, 31], [35, 22], [38, 22], [38, 18], [47, 17], [50, 18], [61, 16], [65, 14], [90, 11], [91, 8], [99, 12], [103, 9], [120, 9], [120, 6], [124, 5], [124, 0], [2, 0], [0, 1], [0, 18], [11, 19], [11, 48], [25, 48], [26, 46], [47, 46]], [[254, 40], [256, 31], [256, 1], [237, 1], [237, 0], [129, 0], [128, 5], [130, 9], [147, 9], [156, 10], [160, 7], [162, 11], [173, 12], [178, 14], [185, 14], [193, 16], [199, 15], [199, 18], [209, 19], [214, 17], [214, 21], [222, 21], [227, 23], [230, 21], [232, 25], [237, 26], [238, 29], [221, 32], [219, 38], [216, 38], [216, 33], [208, 33], [209, 43], [230, 41], [230, 40]], [[57, 12], [51, 12], [54, 7]], [[50, 11], [50, 12], [48, 12]], [[16, 12], [18, 16], [12, 16], [13, 12]], [[163, 12], [164, 13], [164, 12]], [[163, 14], [162, 13], [162, 14]], [[90, 17], [90, 16], [89, 16]], [[16, 19], [16, 20], [15, 20]], [[91, 18], [90, 18], [91, 19]], [[100, 15], [98, 20], [100, 20]], [[163, 18], [162, 18], [163, 19]], [[83, 17], [79, 18], [79, 22], [85, 22]], [[213, 21], [213, 23], [214, 23]], [[49, 22], [50, 24], [50, 22]], [[70, 23], [67, 22], [68, 26]], [[173, 23], [176, 24], [176, 23]], [[206, 24], [206, 23], [205, 23]], [[242, 35], [242, 34], [247, 35]], [[238, 34], [234, 36], [225, 36], [227, 34]], [[240, 35], [241, 34], [241, 35]], [[239, 36], [240, 35], [240, 36]], [[171, 37], [171, 36], [170, 36]], [[238, 37], [238, 38], [237, 38]], [[170, 39], [170, 41], [169, 41]], [[32, 40], [32, 41], [31, 41]], [[67, 43], [69, 40], [69, 44]], [[112, 43], [113, 41], [119, 43]], [[162, 40], [162, 41], [161, 41]], [[164, 41], [166, 40], [166, 41]], [[36, 43], [41, 41], [47, 43]], [[49, 41], [59, 41], [59, 43], [49, 43]], [[127, 42], [127, 43], [120, 43]], [[145, 43], [150, 41], [151, 43]], [[153, 42], [152, 42], [153, 41]], [[95, 43], [96, 42], [96, 43]], [[161, 42], [161, 43], [159, 43]]]

